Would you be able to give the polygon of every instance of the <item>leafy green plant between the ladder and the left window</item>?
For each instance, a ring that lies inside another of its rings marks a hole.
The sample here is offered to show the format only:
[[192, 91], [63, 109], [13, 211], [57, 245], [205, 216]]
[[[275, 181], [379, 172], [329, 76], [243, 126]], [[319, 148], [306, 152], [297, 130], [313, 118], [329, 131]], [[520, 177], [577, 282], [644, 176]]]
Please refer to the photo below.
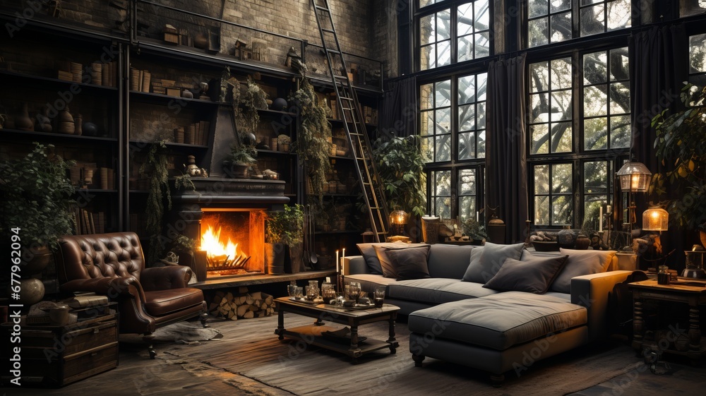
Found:
[[424, 160], [419, 136], [378, 138], [373, 145], [388, 208], [423, 216], [426, 210]]

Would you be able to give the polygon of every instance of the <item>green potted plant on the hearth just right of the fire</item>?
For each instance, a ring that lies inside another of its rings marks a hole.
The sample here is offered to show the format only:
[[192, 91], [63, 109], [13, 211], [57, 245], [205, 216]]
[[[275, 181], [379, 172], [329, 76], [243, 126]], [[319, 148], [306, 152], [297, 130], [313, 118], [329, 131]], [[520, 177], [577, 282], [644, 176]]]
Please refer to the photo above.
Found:
[[[270, 273], [282, 273], [286, 252], [289, 246], [288, 272], [299, 272], [303, 265], [304, 211], [302, 205], [285, 205], [285, 210], [268, 212], [265, 220], [265, 260]], [[280, 256], [281, 255], [281, 256]], [[271, 264], [270, 264], [271, 263]], [[282, 263], [282, 264], [278, 264]], [[277, 272], [279, 271], [279, 272]]]

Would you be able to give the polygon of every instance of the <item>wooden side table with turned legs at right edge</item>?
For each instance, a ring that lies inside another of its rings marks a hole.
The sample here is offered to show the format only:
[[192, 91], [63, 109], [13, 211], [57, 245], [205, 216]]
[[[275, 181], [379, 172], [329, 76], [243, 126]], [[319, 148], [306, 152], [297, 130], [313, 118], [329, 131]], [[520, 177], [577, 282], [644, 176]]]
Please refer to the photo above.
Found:
[[[699, 307], [706, 305], [706, 282], [680, 281], [658, 284], [656, 280], [644, 280], [628, 284], [633, 292], [633, 348], [641, 352], [658, 349], [662, 352], [688, 356], [692, 363], [706, 354], [706, 342], [702, 340]], [[659, 340], [645, 339], [645, 300], [674, 301], [689, 306], [688, 349], [667, 348]]]

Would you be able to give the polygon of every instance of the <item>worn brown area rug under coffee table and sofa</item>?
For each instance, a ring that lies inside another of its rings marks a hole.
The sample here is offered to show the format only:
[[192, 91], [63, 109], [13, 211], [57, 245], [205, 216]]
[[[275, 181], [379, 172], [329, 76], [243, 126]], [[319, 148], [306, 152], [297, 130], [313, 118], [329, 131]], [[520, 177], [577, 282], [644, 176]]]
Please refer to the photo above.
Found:
[[[285, 327], [311, 324], [311, 319], [285, 315]], [[396, 354], [385, 349], [351, 364], [342, 354], [292, 340], [278, 340], [275, 317], [212, 323], [224, 337], [215, 344], [175, 345], [169, 354], [200, 362], [268, 385], [272, 393], [292, 395], [567, 395], [590, 388], [642, 366], [633, 349], [620, 342], [594, 344], [532, 364], [519, 376], [510, 373], [501, 388], [493, 388], [487, 373], [426, 359], [414, 366], [409, 330], [397, 324]], [[341, 326], [342, 327], [342, 326]], [[385, 340], [385, 323], [360, 329], [361, 335]]]

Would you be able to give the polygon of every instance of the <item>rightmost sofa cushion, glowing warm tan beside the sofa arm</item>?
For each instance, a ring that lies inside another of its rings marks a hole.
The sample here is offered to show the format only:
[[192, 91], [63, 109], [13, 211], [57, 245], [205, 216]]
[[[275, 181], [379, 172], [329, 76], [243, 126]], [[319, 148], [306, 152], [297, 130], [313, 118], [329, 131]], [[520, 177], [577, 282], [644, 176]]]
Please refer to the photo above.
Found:
[[554, 292], [570, 293], [571, 278], [606, 272], [616, 251], [580, 251], [560, 248], [559, 253], [562, 256], [568, 255], [568, 259], [549, 289]]

